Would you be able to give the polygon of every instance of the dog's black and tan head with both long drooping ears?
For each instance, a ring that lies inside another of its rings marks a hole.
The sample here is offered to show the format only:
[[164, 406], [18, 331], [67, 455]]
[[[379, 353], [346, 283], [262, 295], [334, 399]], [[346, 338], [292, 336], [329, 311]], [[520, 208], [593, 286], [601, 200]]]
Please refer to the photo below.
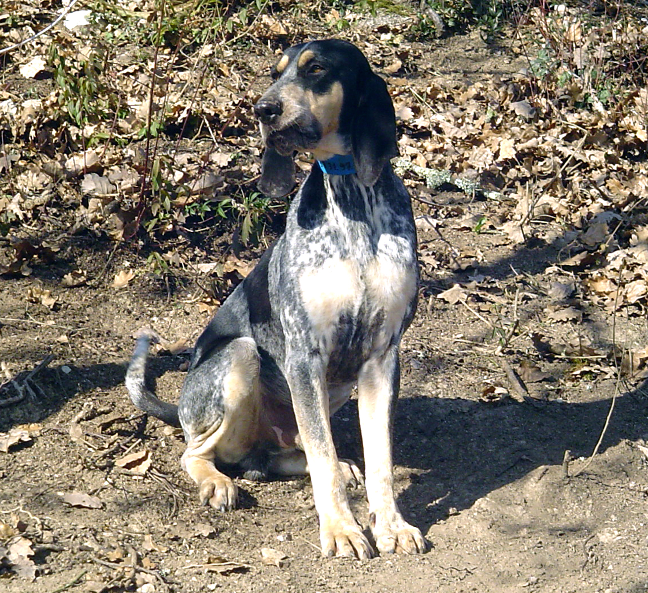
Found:
[[398, 154], [387, 86], [347, 41], [294, 45], [272, 69], [274, 84], [254, 106], [266, 144], [259, 188], [273, 197], [294, 186], [295, 150], [319, 161], [352, 154], [360, 181], [373, 185]]

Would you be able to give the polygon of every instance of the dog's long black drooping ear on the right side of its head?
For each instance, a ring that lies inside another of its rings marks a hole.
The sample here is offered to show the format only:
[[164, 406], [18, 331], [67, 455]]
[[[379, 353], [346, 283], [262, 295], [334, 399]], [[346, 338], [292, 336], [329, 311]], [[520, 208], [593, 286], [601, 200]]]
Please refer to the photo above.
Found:
[[370, 72], [358, 82], [358, 107], [351, 122], [351, 152], [358, 178], [371, 187], [385, 163], [398, 156], [396, 116], [387, 85]]

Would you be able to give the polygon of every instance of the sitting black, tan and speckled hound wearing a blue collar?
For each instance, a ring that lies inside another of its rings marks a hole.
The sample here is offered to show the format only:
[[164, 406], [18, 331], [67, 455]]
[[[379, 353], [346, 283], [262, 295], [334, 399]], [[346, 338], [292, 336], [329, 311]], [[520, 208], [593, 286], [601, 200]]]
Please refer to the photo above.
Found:
[[[294, 187], [295, 151], [316, 159], [284, 234], [218, 309], [196, 342], [178, 406], [145, 386], [151, 335], [135, 346], [126, 386], [135, 406], [181, 425], [182, 467], [214, 509], [235, 507], [229, 465], [244, 478], [310, 474], [325, 556], [375, 555], [346, 486], [362, 480], [338, 459], [330, 416], [354, 385], [365, 459], [369, 528], [380, 553], [421, 553], [426, 542], [395, 501], [391, 413], [399, 343], [419, 279], [410, 196], [397, 155], [387, 86], [346, 41], [288, 48], [254, 106], [265, 144], [259, 189]], [[214, 465], [215, 464], [215, 465]]]

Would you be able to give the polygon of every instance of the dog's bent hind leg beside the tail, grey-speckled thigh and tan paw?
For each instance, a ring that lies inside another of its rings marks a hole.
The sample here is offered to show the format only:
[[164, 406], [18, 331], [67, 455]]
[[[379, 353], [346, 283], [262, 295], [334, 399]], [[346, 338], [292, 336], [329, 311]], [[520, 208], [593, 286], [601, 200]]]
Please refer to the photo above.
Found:
[[198, 485], [200, 502], [233, 509], [237, 487], [214, 460], [239, 463], [259, 437], [259, 355], [251, 338], [236, 338], [189, 371], [178, 404], [187, 450], [182, 467]]

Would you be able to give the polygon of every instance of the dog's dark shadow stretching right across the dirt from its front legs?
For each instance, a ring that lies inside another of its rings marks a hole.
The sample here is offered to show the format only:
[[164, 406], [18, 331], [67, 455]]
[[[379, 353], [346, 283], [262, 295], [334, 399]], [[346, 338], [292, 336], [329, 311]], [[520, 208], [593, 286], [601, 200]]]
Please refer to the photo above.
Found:
[[[340, 456], [362, 460], [357, 408], [355, 400], [343, 406], [332, 428]], [[425, 532], [450, 509], [467, 509], [541, 465], [561, 465], [566, 450], [574, 458], [589, 456], [609, 409], [610, 399], [581, 404], [400, 399], [394, 463], [411, 469], [400, 509]], [[599, 453], [623, 439], [648, 436], [647, 414], [641, 389], [619, 396]]]

